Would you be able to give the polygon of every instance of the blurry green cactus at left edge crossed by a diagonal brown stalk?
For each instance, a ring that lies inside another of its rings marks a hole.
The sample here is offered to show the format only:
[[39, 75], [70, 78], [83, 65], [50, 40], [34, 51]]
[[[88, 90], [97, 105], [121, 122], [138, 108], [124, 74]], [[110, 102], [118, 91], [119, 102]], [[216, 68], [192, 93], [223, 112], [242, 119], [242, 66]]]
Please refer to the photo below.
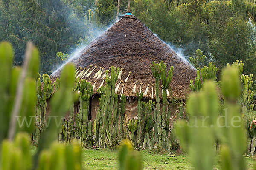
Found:
[[12, 68], [12, 45], [0, 43], [0, 71], [4, 73], [0, 75], [0, 142], [7, 136], [12, 140], [17, 131], [31, 133], [34, 128], [33, 123], [21, 125], [17, 122], [17, 118], [31, 120], [36, 110], [35, 79], [38, 77], [39, 53], [31, 42], [28, 43], [25, 59], [25, 66]]

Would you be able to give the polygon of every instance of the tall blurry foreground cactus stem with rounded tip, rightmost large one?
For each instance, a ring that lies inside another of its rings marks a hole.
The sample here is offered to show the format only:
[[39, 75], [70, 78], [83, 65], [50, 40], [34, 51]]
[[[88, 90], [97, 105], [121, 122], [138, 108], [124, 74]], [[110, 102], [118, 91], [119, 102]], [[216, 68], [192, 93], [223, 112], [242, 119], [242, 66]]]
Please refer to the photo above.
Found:
[[[228, 122], [230, 122], [234, 116], [241, 119], [239, 106], [234, 102], [237, 101], [240, 96], [240, 71], [241, 70], [236, 67], [227, 66], [223, 71], [221, 78], [221, 90], [226, 100], [224, 108], [226, 108], [226, 111], [229, 114]], [[244, 131], [243, 121], [236, 122], [236, 127], [232, 126], [232, 124], [230, 125], [230, 123], [228, 126], [230, 126], [230, 128], [223, 129], [223, 133], [225, 135], [221, 139], [221, 142], [223, 142], [223, 145], [221, 146], [221, 156], [224, 158], [223, 161], [221, 161], [221, 167], [226, 170], [227, 164], [231, 163], [231, 169], [246, 169], [246, 163], [243, 157], [246, 149], [246, 133]], [[233, 135], [230, 138], [228, 134]], [[230, 160], [232, 162], [230, 162]]]

